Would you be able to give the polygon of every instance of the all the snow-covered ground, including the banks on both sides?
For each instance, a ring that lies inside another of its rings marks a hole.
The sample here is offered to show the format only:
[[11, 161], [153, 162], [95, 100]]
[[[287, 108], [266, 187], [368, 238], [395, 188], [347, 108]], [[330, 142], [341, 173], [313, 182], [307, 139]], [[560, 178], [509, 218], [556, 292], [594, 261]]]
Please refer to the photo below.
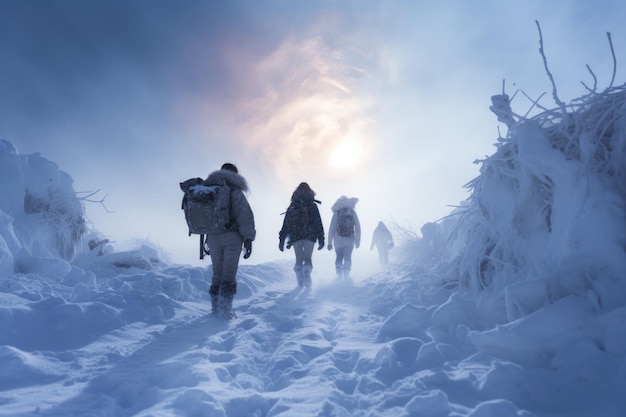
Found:
[[387, 269], [242, 264], [231, 321], [210, 267], [117, 251], [0, 142], [0, 415], [626, 415], [626, 92], [560, 110], [500, 108], [470, 198]]

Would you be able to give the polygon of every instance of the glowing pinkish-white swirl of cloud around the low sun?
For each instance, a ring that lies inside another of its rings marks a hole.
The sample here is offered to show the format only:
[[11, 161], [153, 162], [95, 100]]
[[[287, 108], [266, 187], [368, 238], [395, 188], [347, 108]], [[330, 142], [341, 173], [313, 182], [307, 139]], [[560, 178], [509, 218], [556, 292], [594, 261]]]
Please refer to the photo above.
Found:
[[263, 91], [240, 103], [241, 136], [276, 169], [332, 177], [338, 148], [372, 145], [362, 75], [321, 36], [286, 39], [252, 73]]

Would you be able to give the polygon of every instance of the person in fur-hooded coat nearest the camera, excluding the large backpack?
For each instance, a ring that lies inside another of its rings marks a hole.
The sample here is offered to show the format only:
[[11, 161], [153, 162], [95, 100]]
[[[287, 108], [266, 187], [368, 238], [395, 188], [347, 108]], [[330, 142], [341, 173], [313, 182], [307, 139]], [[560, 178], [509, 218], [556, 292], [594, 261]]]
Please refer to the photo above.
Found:
[[227, 224], [227, 231], [206, 236], [213, 265], [213, 277], [209, 288], [212, 314], [230, 319], [234, 317], [232, 304], [237, 292], [236, 276], [242, 245], [243, 257], [248, 259], [252, 254], [252, 241], [256, 236], [254, 214], [245, 196], [249, 191], [248, 182], [239, 175], [235, 165], [225, 163], [220, 170], [209, 174], [204, 184], [226, 184], [230, 188], [230, 222]]

